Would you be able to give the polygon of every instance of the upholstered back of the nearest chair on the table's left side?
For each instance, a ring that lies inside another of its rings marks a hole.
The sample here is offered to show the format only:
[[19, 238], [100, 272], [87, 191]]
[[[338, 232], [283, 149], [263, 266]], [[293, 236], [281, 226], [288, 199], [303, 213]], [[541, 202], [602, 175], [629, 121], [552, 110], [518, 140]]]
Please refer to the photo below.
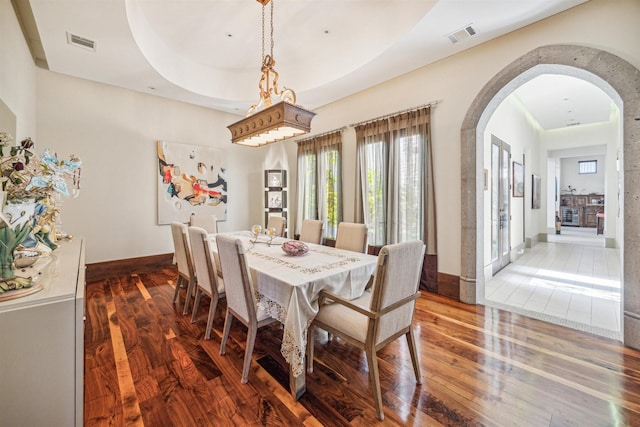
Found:
[[234, 236], [218, 234], [216, 243], [222, 277], [224, 277], [227, 307], [246, 323], [255, 322], [256, 297], [242, 240]]

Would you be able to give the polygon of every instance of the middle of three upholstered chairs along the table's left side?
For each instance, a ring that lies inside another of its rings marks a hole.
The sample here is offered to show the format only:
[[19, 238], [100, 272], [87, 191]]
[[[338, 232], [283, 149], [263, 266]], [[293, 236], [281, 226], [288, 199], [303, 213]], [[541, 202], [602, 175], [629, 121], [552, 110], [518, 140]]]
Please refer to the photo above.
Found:
[[209, 304], [209, 315], [207, 317], [207, 329], [204, 339], [211, 337], [211, 327], [213, 326], [213, 316], [218, 306], [218, 300], [224, 298], [224, 282], [218, 277], [215, 259], [211, 250], [211, 243], [207, 230], [202, 227], [189, 227], [189, 242], [191, 243], [191, 253], [193, 255], [193, 267], [196, 272], [196, 297], [193, 301], [193, 312], [191, 323], [196, 321], [202, 294], [211, 298]]

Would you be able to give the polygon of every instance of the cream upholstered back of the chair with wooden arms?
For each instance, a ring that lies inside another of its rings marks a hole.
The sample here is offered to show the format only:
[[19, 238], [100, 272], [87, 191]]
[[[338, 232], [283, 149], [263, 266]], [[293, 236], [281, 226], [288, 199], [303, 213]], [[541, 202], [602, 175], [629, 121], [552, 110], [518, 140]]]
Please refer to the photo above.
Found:
[[[387, 245], [380, 250], [374, 279], [371, 311], [381, 311], [418, 292], [425, 246], [420, 240]], [[403, 328], [413, 320], [415, 300], [380, 317], [376, 344]]]

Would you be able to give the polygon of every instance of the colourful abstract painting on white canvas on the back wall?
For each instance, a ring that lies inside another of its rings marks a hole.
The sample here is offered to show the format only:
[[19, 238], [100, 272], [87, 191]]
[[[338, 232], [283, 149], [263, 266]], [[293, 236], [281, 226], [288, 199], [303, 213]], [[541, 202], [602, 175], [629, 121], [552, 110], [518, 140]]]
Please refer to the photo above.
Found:
[[158, 224], [186, 223], [191, 214], [227, 219], [224, 152], [158, 141]]

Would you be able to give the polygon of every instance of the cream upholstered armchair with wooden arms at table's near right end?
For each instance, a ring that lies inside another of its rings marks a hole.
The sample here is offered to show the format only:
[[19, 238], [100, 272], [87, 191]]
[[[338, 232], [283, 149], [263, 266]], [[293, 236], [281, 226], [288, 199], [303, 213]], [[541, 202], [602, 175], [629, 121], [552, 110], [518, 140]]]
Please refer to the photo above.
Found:
[[[355, 300], [328, 292], [320, 293], [320, 310], [313, 320], [307, 340], [307, 367], [313, 372], [314, 329], [321, 328], [363, 349], [369, 365], [369, 384], [376, 403], [377, 416], [384, 419], [378, 350], [405, 335], [413, 362], [416, 382], [421, 383], [420, 364], [413, 337], [413, 313], [424, 258], [424, 244], [419, 241], [387, 245], [378, 254], [378, 264], [371, 291]], [[323, 304], [324, 298], [331, 304]]]

